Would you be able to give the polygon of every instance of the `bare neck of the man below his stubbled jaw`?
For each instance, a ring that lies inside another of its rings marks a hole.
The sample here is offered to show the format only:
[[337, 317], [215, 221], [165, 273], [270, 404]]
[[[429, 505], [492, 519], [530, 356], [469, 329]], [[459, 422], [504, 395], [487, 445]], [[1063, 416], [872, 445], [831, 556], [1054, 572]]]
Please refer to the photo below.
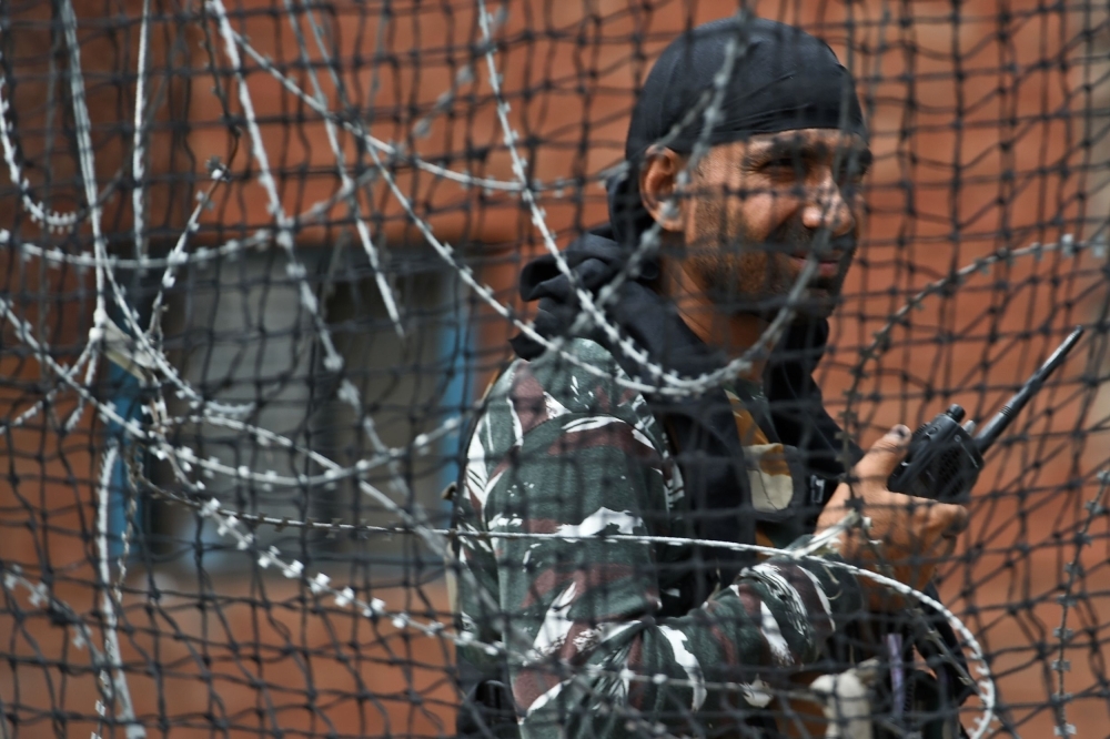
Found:
[[[683, 262], [663, 260], [660, 291], [675, 302], [678, 315], [698, 338], [724, 350], [729, 358], [740, 356], [759, 341], [767, 322], [756, 315], [723, 312], [709, 298], [706, 285], [690, 274]], [[763, 357], [755, 358], [751, 368], [740, 376], [760, 383], [765, 364]]]

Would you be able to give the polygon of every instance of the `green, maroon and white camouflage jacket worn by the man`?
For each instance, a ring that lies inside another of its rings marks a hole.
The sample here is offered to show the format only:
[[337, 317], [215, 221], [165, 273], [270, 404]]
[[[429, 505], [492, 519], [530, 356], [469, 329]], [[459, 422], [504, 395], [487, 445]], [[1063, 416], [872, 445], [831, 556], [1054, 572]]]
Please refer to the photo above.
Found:
[[[626, 377], [592, 341], [568, 350]], [[476, 642], [458, 657], [509, 684], [521, 736], [648, 736], [657, 725], [700, 736], [744, 720], [860, 610], [842, 569], [785, 558], [692, 604], [689, 545], [606, 538], [693, 536], [679, 469], [642, 394], [545, 354], [514, 362], [486, 401], [457, 496], [468, 574], [457, 579], [458, 625]]]

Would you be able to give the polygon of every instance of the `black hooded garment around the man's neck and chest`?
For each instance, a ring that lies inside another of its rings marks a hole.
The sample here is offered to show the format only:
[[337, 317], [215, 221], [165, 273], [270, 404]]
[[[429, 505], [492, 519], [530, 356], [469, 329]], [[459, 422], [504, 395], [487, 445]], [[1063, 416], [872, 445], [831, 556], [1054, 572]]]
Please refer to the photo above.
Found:
[[[596, 294], [620, 271], [628, 252], [604, 226], [572, 244], [564, 259], [579, 284]], [[724, 366], [728, 358], [698, 338], [679, 317], [674, 303], [652, 288], [657, 277], [658, 264], [647, 260], [636, 279], [626, 281], [616, 300], [606, 307], [609, 320], [645, 350], [654, 363], [670, 372], [696, 377]], [[579, 313], [571, 281], [558, 271], [551, 255], [524, 267], [521, 295], [526, 301], [539, 301], [535, 328], [544, 336], [564, 335]], [[840, 427], [825, 409], [821, 391], [813, 378], [814, 368], [825, 353], [828, 331], [828, 322], [824, 320], [795, 323], [771, 354], [764, 375], [770, 418], [760, 426], [777, 435], [773, 441], [796, 448], [807, 470], [805, 483], [809, 489], [799, 490], [794, 505], [783, 514], [753, 510], [740, 439], [729, 403], [719, 388], [690, 397], [647, 395], [654, 415], [676, 448], [686, 494], [695, 510], [698, 538], [751, 543], [756, 525], [766, 524], [787, 529], [775, 538], [788, 543], [796, 535], [808, 533], [836, 489], [846, 469], [841, 462], [846, 449]], [[599, 331], [587, 337], [608, 348], [630, 376], [649, 382], [639, 364], [619, 347], [610, 346]], [[513, 340], [513, 348], [525, 360], [542, 352], [537, 343], [524, 336]], [[848, 444], [847, 454], [850, 464], [861, 456], [852, 443]], [[706, 568], [713, 581], [699, 584], [710, 590], [718, 581], [731, 581], [746, 564], [739, 553], [722, 549], [705, 551], [703, 556], [716, 564]], [[704, 597], [707, 591], [692, 595]]]

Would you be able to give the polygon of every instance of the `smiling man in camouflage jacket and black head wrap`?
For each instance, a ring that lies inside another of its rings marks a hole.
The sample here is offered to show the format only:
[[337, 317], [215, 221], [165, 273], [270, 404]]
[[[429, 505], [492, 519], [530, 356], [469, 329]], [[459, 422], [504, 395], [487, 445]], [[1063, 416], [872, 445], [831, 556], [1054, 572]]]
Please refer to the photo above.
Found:
[[[710, 149], [687, 183], [729, 43]], [[462, 736], [774, 736], [785, 730], [769, 715], [776, 691], [846, 669], [846, 640], [829, 637], [889, 604], [831, 564], [760, 561], [727, 544], [788, 546], [839, 523], [856, 498], [870, 527], [841, 533], [827, 559], [881, 560], [922, 587], [927, 557], [966, 522], [958, 506], [886, 489], [904, 426], [866, 455], [850, 447], [844, 464], [811, 378], [856, 250], [869, 156], [831, 50], [764, 20], [683, 34], [645, 82], [626, 155], [610, 224], [565, 252], [574, 283], [549, 256], [522, 274], [524, 297], [541, 300], [536, 330], [565, 338], [577, 362], [514, 340], [517, 360], [470, 441], [457, 605], [477, 644], [458, 650]], [[659, 249], [605, 306], [649, 362], [596, 327], [567, 335], [576, 287], [614, 284], [653, 226]], [[629, 389], [655, 384], [648, 365], [697, 377], [743, 354], [807, 260], [817, 264], [799, 320], [773, 356], [682, 397]]]

